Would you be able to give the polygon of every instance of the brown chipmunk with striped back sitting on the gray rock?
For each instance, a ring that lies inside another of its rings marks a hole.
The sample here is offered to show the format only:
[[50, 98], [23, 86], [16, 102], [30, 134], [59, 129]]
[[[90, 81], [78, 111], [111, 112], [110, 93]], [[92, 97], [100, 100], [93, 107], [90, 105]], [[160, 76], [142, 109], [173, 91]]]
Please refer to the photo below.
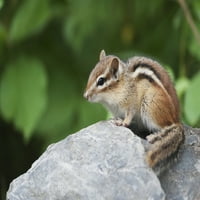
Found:
[[156, 61], [133, 57], [125, 63], [102, 50], [84, 97], [103, 104], [116, 125], [128, 127], [135, 121], [149, 131], [146, 160], [152, 168], [173, 155], [183, 141], [176, 91]]

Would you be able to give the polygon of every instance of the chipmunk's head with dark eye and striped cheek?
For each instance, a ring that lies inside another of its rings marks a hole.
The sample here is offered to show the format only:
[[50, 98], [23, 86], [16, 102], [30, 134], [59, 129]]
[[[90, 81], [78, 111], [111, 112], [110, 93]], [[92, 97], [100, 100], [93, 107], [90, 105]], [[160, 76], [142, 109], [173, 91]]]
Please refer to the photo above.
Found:
[[[99, 62], [90, 73], [84, 97], [91, 102], [107, 102], [108, 98], [116, 92], [124, 64], [116, 56], [106, 56], [101, 51]], [[115, 94], [116, 95], [116, 94]]]

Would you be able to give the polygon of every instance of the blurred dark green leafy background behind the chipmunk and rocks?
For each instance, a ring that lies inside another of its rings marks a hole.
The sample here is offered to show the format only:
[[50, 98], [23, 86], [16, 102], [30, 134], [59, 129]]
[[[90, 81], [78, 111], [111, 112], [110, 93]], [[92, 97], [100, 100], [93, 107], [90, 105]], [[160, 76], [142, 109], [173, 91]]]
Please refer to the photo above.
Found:
[[83, 99], [101, 49], [159, 61], [200, 126], [199, 0], [0, 0], [0, 199], [49, 144], [106, 119]]

